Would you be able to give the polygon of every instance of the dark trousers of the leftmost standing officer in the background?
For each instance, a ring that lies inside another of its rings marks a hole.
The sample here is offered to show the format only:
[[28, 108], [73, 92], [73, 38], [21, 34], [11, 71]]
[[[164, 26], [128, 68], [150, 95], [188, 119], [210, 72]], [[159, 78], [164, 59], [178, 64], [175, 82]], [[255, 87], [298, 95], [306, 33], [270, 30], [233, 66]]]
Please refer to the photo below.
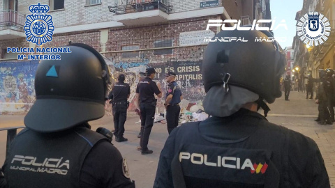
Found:
[[114, 135], [118, 138], [124, 136], [124, 123], [127, 120], [127, 107], [124, 104], [113, 105]]

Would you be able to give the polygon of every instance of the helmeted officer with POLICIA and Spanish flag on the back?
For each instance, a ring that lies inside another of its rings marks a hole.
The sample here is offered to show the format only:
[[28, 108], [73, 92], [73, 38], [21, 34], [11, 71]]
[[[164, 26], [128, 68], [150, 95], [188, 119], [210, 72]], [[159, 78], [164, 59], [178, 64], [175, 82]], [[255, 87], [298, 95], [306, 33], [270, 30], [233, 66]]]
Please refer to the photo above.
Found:
[[[209, 42], [202, 75], [204, 111], [211, 118], [185, 123], [168, 137], [154, 187], [330, 187], [312, 139], [269, 123], [258, 113], [281, 97], [285, 54], [268, 31], [221, 31]], [[272, 36], [273, 37], [273, 36]]]

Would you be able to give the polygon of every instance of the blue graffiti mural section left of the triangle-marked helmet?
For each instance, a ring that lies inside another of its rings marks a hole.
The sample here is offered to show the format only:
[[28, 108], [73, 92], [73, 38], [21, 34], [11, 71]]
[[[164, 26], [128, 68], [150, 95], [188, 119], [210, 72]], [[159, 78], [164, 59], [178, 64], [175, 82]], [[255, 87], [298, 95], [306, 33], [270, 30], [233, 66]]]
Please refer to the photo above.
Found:
[[35, 101], [38, 61], [0, 63], [0, 114], [27, 112]]

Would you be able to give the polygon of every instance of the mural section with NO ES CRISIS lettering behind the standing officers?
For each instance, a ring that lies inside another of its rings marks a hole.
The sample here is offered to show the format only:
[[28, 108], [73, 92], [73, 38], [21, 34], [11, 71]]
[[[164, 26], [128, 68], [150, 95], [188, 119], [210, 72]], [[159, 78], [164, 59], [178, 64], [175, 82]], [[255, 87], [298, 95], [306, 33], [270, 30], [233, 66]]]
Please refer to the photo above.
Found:
[[[142, 56], [143, 57], [143, 56]], [[121, 72], [126, 75], [126, 83], [131, 86], [131, 96], [129, 101], [131, 105], [128, 110], [133, 111], [137, 107], [135, 104], [135, 91], [138, 84], [138, 74], [145, 72], [146, 68], [155, 68], [157, 75], [154, 81], [160, 82], [163, 93], [165, 93], [168, 83], [165, 81], [165, 74], [173, 71], [177, 74], [177, 84], [181, 88], [184, 99], [188, 102], [200, 102], [204, 97], [204, 88], [202, 84], [202, 61], [175, 61], [168, 63], [150, 63], [149, 59], [142, 58], [142, 62], [132, 63], [113, 63], [118, 74]], [[117, 75], [115, 76], [117, 77]], [[158, 100], [158, 109], [163, 110], [165, 95]]]

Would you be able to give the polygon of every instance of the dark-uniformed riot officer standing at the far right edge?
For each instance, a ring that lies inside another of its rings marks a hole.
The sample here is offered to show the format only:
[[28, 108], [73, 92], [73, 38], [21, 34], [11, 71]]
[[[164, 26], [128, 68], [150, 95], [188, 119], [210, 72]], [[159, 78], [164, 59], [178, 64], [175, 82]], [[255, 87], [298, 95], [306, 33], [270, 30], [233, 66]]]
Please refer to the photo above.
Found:
[[316, 101], [315, 103], [318, 104], [318, 111], [319, 111], [319, 116], [318, 116], [318, 124], [320, 125], [327, 125], [327, 124], [332, 124], [331, 116], [328, 111], [328, 99], [327, 97], [327, 72], [323, 69], [319, 69], [319, 86], [318, 86], [318, 93], [316, 95]]

